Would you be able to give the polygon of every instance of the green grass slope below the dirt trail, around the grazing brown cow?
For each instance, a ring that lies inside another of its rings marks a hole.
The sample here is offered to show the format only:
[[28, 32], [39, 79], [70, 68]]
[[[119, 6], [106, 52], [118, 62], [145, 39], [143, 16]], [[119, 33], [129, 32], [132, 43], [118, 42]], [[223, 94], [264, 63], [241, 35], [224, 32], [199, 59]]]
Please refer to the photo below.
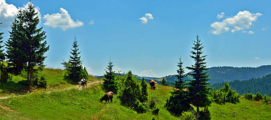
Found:
[[[160, 87], [159, 88], [164, 88]], [[177, 120], [176, 117], [165, 110], [164, 103], [170, 88], [150, 91], [151, 97], [157, 98], [157, 106], [160, 108], [156, 120]], [[162, 94], [160, 94], [162, 93]], [[113, 98], [112, 103], [100, 103], [100, 97], [104, 95], [100, 85], [93, 85], [84, 90], [62, 90], [50, 93], [33, 93], [27, 96], [11, 97], [3, 99], [0, 104], [8, 106], [11, 111], [0, 112], [0, 119], [3, 120], [151, 120], [154, 115], [149, 112], [137, 114], [134, 110], [120, 105], [120, 101]], [[11, 115], [12, 114], [12, 115]]]

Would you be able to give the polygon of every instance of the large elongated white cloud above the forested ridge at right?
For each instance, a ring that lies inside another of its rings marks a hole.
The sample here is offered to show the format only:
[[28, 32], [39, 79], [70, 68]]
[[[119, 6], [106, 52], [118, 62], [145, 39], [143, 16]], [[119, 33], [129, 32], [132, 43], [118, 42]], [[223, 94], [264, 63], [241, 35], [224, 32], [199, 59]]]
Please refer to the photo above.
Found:
[[[217, 18], [219, 18], [218, 16]], [[261, 13], [254, 14], [246, 10], [239, 11], [237, 15], [235, 15], [234, 17], [226, 18], [222, 22], [212, 23], [211, 27], [213, 28], [213, 30], [211, 30], [210, 32], [213, 34], [219, 35], [221, 33], [229, 31], [230, 27], [234, 28], [231, 30], [232, 32], [237, 32], [239, 30], [245, 31], [245, 29], [250, 29], [253, 26], [252, 23], [255, 22], [260, 16], [262, 16]]]

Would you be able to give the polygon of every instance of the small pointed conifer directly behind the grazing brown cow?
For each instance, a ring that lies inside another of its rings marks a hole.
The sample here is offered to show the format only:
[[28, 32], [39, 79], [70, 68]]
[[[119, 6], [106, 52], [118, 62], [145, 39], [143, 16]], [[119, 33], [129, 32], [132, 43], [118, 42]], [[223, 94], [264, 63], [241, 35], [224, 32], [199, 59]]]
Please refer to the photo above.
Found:
[[114, 75], [114, 71], [113, 71], [113, 62], [110, 61], [108, 62], [108, 65], [106, 67], [107, 70], [105, 70], [105, 74], [104, 74], [104, 79], [103, 79], [103, 83], [102, 83], [102, 89], [105, 90], [106, 92], [112, 91], [112, 92], [116, 92], [118, 90], [118, 85], [117, 82], [115, 80], [115, 75]]

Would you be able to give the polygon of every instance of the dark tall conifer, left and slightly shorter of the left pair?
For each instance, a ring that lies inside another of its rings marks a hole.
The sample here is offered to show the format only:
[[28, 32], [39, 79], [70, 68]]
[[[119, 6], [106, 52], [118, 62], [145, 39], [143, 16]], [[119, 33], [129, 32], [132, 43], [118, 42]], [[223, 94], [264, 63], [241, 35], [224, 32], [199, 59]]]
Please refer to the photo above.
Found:
[[26, 56], [26, 33], [25, 33], [25, 11], [19, 8], [11, 24], [9, 39], [6, 41], [6, 58], [8, 67], [14, 74], [20, 74], [27, 63]]

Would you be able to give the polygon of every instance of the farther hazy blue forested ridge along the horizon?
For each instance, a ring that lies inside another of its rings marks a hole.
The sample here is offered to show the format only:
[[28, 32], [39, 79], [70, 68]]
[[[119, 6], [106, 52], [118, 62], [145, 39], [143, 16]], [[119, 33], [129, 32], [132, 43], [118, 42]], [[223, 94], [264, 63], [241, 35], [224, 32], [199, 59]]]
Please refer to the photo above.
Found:
[[[259, 67], [230, 67], [230, 66], [219, 66], [219, 67], [210, 67], [207, 70], [209, 75], [210, 83], [223, 83], [231, 82], [234, 80], [249, 80], [251, 78], [262, 78], [264, 75], [271, 74], [271, 65], [263, 65]], [[162, 77], [161, 79], [156, 79], [161, 81], [165, 78], [170, 84], [176, 78], [174, 75], [168, 75]], [[184, 80], [191, 79], [192, 77], [187, 76]]]

